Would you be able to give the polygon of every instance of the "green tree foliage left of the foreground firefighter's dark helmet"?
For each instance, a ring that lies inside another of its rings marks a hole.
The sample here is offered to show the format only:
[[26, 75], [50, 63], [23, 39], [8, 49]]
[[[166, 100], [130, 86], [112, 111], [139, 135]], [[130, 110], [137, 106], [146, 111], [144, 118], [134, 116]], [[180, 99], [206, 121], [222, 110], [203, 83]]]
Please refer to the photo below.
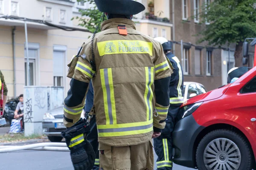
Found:
[[[90, 8], [87, 9], [79, 9], [81, 12], [81, 17], [76, 17], [79, 19], [79, 26], [87, 28], [91, 33], [93, 33], [98, 25], [100, 18], [102, 16], [102, 12], [100, 12], [94, 2], [94, 0], [76, 0], [80, 3], [87, 3], [91, 4]], [[74, 18], [72, 18], [73, 20]], [[100, 32], [100, 28], [97, 32]]]

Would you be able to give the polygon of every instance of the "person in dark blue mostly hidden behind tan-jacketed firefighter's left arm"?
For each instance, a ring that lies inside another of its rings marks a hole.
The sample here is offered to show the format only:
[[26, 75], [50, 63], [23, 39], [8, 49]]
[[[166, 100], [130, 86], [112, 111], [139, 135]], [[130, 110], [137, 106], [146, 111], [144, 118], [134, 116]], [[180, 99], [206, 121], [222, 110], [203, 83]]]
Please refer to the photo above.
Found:
[[[88, 114], [93, 108], [93, 84], [92, 81], [89, 83], [89, 89], [85, 99], [84, 105], [84, 117], [87, 118]], [[99, 142], [98, 142], [98, 132], [95, 116], [90, 119], [90, 133], [87, 135], [87, 140], [93, 146], [95, 152], [95, 162], [93, 170], [99, 170]]]

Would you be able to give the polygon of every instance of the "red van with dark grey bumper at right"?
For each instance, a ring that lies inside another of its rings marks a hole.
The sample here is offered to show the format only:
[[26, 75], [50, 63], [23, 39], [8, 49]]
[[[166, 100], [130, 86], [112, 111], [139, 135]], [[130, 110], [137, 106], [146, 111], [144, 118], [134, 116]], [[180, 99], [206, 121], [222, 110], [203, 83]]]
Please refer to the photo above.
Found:
[[198, 170], [255, 168], [256, 67], [183, 103], [177, 121], [174, 163]]

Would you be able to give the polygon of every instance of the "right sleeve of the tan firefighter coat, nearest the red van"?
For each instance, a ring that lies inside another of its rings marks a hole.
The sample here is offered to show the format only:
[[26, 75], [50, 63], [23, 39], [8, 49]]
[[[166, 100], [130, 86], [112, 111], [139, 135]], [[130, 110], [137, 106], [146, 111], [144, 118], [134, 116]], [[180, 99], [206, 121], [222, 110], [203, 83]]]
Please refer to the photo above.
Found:
[[[169, 108], [169, 84], [171, 79], [172, 64], [163, 52], [162, 45], [157, 43], [155, 48], [155, 116], [153, 121], [154, 132], [161, 132], [166, 125], [166, 117]], [[158, 115], [158, 116], [156, 116]]]

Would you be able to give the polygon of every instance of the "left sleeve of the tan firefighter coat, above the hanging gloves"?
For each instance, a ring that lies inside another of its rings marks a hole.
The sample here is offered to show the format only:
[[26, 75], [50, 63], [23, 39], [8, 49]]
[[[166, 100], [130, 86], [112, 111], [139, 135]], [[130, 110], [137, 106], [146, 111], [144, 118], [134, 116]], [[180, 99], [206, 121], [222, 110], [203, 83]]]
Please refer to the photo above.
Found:
[[91, 39], [82, 46], [79, 55], [74, 56], [68, 65], [70, 68], [67, 77], [70, 77], [71, 81], [70, 89], [64, 100], [63, 122], [66, 127], [71, 127], [81, 118], [89, 82], [95, 74], [95, 71], [90, 64], [90, 41]]

